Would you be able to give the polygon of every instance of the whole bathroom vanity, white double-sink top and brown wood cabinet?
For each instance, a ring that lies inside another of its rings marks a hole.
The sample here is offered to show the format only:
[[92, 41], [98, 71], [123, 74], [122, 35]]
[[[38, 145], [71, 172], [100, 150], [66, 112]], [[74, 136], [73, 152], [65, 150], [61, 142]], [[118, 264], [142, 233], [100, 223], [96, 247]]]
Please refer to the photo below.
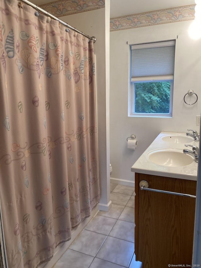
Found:
[[185, 144], [198, 146], [185, 133], [161, 132], [131, 168], [135, 254], [143, 268], [192, 264], [195, 198], [139, 186], [148, 183], [149, 189], [195, 196], [198, 163], [183, 153]]

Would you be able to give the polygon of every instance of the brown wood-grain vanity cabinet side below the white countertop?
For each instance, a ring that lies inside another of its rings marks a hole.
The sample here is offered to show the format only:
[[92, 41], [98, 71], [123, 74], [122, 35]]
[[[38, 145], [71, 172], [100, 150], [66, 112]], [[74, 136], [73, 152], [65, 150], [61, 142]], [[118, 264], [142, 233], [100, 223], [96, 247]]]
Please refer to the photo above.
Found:
[[191, 265], [195, 198], [140, 190], [149, 188], [196, 195], [196, 181], [135, 173], [135, 254], [143, 268]]

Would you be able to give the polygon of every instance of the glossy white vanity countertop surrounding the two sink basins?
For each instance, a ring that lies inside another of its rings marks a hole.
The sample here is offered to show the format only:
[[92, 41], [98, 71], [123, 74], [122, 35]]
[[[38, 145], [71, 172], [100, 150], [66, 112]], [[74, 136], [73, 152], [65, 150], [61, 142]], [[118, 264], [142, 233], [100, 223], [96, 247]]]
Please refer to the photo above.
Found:
[[[186, 136], [186, 133], [176, 133], [176, 132], [161, 132], [151, 145], [144, 151], [144, 153], [139, 157], [139, 159], [131, 167], [132, 172], [138, 172], [143, 174], [157, 175], [170, 178], [179, 178], [187, 180], [197, 180], [198, 173], [198, 163], [194, 160], [190, 165], [182, 167], [170, 167], [162, 166], [151, 162], [147, 154], [156, 149], [189, 149], [190, 147], [185, 147], [182, 143], [165, 142], [161, 138], [165, 135], [178, 135]], [[187, 144], [199, 146], [199, 142], [194, 141], [188, 142]], [[193, 156], [192, 156], [193, 157]]]

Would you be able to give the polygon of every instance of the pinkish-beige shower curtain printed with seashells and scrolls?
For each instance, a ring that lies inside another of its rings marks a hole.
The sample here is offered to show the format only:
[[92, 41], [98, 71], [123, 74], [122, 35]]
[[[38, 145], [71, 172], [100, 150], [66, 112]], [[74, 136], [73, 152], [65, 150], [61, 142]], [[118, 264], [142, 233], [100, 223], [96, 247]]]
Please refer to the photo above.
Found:
[[0, 1], [0, 199], [8, 267], [37, 267], [99, 202], [93, 41]]

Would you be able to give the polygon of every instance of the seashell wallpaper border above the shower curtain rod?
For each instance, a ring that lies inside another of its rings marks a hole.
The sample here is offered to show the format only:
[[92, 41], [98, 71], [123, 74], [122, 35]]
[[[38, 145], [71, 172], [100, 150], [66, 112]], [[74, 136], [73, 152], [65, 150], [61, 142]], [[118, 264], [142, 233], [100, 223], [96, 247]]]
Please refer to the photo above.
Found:
[[105, 0], [59, 0], [40, 5], [54, 16], [66, 16], [105, 7]]

